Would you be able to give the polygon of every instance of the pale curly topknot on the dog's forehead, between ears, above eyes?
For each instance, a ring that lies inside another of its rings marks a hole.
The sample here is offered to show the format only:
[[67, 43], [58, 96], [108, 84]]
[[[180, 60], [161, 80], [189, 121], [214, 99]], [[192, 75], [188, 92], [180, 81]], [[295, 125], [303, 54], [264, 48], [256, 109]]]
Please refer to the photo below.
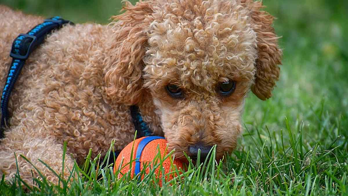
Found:
[[145, 86], [177, 78], [185, 88], [213, 90], [228, 78], [253, 79], [257, 45], [247, 9], [233, 1], [170, 2], [159, 9], [147, 32], [144, 71], [152, 80]]

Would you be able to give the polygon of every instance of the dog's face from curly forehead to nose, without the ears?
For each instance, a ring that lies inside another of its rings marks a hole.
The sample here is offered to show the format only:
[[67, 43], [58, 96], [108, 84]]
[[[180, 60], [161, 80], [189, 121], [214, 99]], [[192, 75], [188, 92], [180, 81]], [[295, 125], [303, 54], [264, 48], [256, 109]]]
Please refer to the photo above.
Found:
[[242, 129], [257, 45], [250, 18], [231, 3], [205, 5], [198, 8], [204, 14], [196, 15], [180, 12], [183, 5], [176, 4], [150, 24], [144, 86], [157, 106], [169, 148], [178, 153], [199, 143], [217, 144], [221, 157], [235, 148]]

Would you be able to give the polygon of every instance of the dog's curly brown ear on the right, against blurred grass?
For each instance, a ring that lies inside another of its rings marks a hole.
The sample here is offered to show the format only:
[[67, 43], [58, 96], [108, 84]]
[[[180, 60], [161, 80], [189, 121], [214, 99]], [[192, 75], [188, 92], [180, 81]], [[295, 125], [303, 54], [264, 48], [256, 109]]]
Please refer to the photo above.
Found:
[[258, 59], [256, 60], [255, 83], [251, 90], [260, 99], [266, 100], [272, 96], [273, 87], [279, 78], [282, 64], [282, 50], [278, 46], [278, 38], [272, 27], [274, 17], [265, 11], [262, 2], [242, 0], [250, 8], [253, 29], [256, 33]]

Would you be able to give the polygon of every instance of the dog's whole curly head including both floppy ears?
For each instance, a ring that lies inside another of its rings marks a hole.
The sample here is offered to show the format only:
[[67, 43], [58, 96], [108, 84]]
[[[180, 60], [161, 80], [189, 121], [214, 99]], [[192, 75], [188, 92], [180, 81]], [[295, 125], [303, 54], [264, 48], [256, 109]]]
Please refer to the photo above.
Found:
[[231, 151], [242, 131], [244, 99], [265, 100], [282, 52], [273, 17], [253, 0], [152, 0], [115, 16], [109, 96], [132, 105], [150, 93], [169, 148], [189, 154], [217, 144]]

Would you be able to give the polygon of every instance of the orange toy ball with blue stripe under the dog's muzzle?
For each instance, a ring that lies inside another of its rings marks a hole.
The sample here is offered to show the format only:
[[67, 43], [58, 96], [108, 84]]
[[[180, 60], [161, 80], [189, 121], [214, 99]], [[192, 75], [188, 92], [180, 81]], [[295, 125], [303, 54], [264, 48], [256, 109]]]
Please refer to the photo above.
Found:
[[[134, 146], [134, 147], [133, 147]], [[150, 168], [157, 165], [159, 163], [159, 159], [157, 159], [157, 163], [152, 163], [155, 156], [158, 154], [158, 148], [161, 153], [161, 159], [165, 158], [167, 155], [167, 140], [164, 137], [158, 136], [147, 136], [136, 139], [134, 142], [129, 143], [119, 154], [115, 161], [115, 166], [113, 168], [113, 172], [116, 173], [119, 170], [118, 178], [122, 177], [122, 174], [126, 174], [129, 171], [130, 166], [130, 156], [133, 148], [133, 161], [132, 161], [132, 171], [130, 173], [133, 178], [134, 175], [139, 174], [143, 166], [147, 166], [145, 172], [148, 174], [150, 172]], [[122, 165], [121, 164], [122, 161]], [[173, 166], [175, 165], [177, 169], [183, 168], [182, 161], [178, 159], [173, 160]], [[150, 165], [150, 166], [149, 166]], [[163, 161], [163, 168], [165, 173], [175, 171], [171, 164], [171, 159], [168, 157]], [[162, 179], [162, 168], [160, 166], [155, 170], [155, 176], [159, 177], [159, 184]], [[160, 174], [158, 174], [160, 172]], [[171, 173], [170, 175], [165, 175], [165, 180], [171, 180], [176, 175], [176, 173]], [[140, 176], [139, 179], [143, 179], [144, 175]]]

